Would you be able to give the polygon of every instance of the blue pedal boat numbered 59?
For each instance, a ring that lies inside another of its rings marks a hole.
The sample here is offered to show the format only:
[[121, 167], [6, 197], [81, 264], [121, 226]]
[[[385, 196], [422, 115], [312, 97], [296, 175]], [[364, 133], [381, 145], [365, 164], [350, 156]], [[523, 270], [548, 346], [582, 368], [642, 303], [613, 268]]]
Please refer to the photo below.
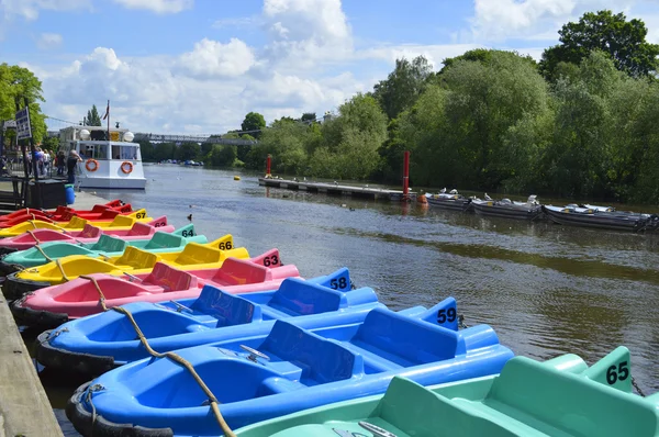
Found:
[[[499, 373], [513, 357], [490, 326], [454, 330], [437, 325], [438, 314], [423, 320], [376, 307], [362, 322], [315, 329], [277, 321], [267, 335], [176, 354], [194, 367], [234, 429], [380, 394], [395, 376], [431, 385]], [[168, 358], [104, 373], [78, 389], [66, 413], [94, 437], [222, 435], [208, 396]]]

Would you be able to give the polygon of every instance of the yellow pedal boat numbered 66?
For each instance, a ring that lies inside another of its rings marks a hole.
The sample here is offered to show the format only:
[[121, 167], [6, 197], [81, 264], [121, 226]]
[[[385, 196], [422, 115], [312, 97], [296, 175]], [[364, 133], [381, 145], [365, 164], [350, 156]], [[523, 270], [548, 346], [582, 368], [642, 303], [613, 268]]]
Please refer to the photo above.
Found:
[[226, 258], [249, 258], [244, 247], [233, 248], [233, 236], [224, 235], [206, 244], [188, 243], [182, 251], [153, 254], [133, 246], [119, 257], [91, 258], [71, 255], [31, 269], [11, 273], [2, 285], [7, 299], [19, 299], [24, 293], [56, 285], [82, 274], [112, 276], [148, 273], [158, 261], [181, 270], [216, 269]]

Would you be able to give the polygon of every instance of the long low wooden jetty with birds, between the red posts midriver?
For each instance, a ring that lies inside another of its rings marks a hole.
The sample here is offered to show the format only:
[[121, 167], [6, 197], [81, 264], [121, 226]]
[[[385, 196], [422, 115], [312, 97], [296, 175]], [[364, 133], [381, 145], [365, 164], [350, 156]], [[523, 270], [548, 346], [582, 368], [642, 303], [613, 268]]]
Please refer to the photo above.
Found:
[[[301, 190], [326, 194], [353, 195], [356, 198], [403, 200], [402, 190], [390, 190], [388, 188], [372, 188], [368, 186], [342, 186], [327, 182], [309, 182], [289, 179], [258, 178], [258, 184], [265, 187], [283, 188], [289, 190]], [[416, 199], [416, 192], [409, 192], [410, 200]]]

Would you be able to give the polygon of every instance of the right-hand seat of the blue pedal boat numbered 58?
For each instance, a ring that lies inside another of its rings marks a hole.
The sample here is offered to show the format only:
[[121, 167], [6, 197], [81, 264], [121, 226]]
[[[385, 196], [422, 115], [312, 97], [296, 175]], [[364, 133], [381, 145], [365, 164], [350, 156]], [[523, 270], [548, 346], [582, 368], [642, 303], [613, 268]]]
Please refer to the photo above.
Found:
[[[265, 309], [280, 315], [298, 316], [337, 311], [347, 305], [345, 293], [298, 278], [288, 278]], [[272, 311], [275, 310], [275, 311]]]

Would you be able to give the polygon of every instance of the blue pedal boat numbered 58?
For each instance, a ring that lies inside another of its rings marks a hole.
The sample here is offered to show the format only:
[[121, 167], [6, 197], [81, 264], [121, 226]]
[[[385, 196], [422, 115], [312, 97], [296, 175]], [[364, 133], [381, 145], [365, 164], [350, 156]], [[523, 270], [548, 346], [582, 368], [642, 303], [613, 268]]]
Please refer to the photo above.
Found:
[[[278, 290], [230, 294], [204, 285], [197, 299], [134, 302], [129, 310], [149, 345], [165, 352], [230, 338], [267, 334], [276, 320], [319, 327], [362, 321], [383, 306], [370, 288], [351, 289], [342, 268], [309, 280], [286, 279]], [[48, 368], [91, 376], [148, 357], [129, 318], [116, 311], [81, 317], [38, 336], [36, 359]]]

